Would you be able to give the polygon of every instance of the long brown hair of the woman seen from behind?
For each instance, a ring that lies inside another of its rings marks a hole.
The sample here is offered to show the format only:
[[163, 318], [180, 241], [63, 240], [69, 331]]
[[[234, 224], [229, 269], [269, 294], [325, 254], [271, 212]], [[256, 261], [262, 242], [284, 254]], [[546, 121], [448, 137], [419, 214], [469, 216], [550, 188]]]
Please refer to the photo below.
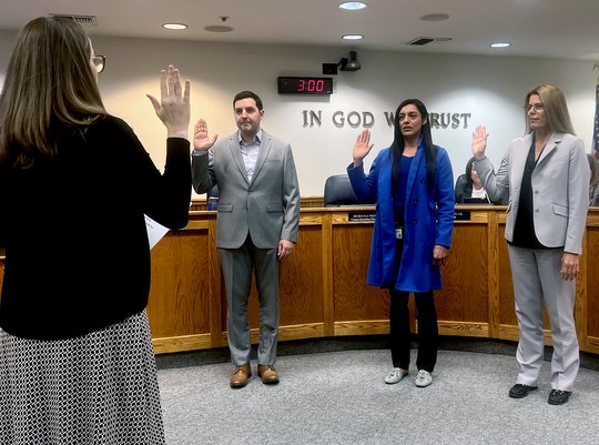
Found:
[[106, 111], [83, 28], [42, 17], [17, 36], [0, 95], [0, 163], [28, 168], [57, 154], [61, 128], [84, 130]]

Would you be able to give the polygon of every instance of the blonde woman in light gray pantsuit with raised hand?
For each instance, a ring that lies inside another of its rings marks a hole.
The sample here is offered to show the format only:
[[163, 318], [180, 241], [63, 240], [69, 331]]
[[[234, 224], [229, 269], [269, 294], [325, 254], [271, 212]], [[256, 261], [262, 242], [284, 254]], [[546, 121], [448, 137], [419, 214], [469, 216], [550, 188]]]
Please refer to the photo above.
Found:
[[520, 338], [519, 373], [508, 394], [522, 398], [537, 390], [545, 302], [554, 345], [547, 402], [562, 405], [580, 365], [573, 306], [589, 205], [589, 165], [560, 89], [538, 85], [526, 94], [525, 111], [527, 134], [511, 141], [497, 173], [485, 155], [485, 127], [475, 130], [471, 149], [491, 200], [509, 194], [506, 240]]

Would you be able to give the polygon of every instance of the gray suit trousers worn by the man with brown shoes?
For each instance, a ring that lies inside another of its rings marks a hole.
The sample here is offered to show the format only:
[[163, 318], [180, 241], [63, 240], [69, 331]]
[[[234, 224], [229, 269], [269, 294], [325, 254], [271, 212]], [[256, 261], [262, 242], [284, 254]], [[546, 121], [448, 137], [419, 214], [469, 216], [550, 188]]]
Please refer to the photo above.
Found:
[[219, 249], [226, 292], [226, 335], [231, 361], [235, 365], [250, 363], [252, 340], [247, 300], [255, 271], [260, 300], [260, 344], [257, 362], [273, 365], [276, 361], [278, 337], [277, 249], [256, 249], [247, 236], [240, 249]]

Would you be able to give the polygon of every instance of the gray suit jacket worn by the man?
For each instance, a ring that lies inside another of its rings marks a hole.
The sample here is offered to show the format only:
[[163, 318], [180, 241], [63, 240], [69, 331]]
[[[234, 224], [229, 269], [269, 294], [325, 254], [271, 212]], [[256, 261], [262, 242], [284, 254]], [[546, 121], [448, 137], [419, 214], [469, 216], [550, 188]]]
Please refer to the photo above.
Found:
[[262, 131], [260, 154], [247, 180], [237, 133], [192, 158], [196, 193], [219, 186], [216, 247], [238, 249], [247, 233], [258, 249], [297, 242], [300, 185], [291, 145]]

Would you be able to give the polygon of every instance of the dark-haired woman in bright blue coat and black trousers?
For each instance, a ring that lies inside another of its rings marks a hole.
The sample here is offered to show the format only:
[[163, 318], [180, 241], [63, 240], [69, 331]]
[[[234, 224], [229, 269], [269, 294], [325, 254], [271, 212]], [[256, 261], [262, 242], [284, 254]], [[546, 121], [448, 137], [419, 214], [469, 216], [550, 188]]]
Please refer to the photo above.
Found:
[[362, 131], [347, 168], [361, 202], [376, 201], [367, 283], [388, 289], [393, 368], [385, 383], [402, 381], [409, 370], [409, 294], [418, 312], [418, 375], [415, 384], [433, 383], [438, 326], [433, 291], [441, 287], [440, 265], [447, 260], [454, 229], [454, 175], [447, 151], [433, 144], [428, 111], [417, 99], [403, 101], [395, 113], [395, 138], [366, 175], [370, 132]]

